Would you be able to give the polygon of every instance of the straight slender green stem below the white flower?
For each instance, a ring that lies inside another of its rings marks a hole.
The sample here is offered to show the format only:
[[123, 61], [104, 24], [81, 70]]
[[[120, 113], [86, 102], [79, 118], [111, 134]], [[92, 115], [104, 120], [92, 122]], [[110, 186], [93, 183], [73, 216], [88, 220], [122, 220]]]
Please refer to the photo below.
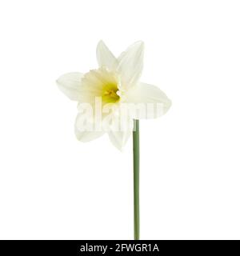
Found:
[[134, 240], [139, 240], [139, 121], [134, 120]]

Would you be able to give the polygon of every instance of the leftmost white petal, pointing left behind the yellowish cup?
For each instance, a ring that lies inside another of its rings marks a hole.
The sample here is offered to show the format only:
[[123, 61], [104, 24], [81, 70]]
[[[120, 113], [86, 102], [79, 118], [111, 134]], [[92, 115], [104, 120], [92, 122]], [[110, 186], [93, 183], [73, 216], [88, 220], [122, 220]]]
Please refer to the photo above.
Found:
[[77, 72], [63, 74], [57, 80], [58, 88], [71, 100], [80, 101], [82, 77], [83, 74]]

